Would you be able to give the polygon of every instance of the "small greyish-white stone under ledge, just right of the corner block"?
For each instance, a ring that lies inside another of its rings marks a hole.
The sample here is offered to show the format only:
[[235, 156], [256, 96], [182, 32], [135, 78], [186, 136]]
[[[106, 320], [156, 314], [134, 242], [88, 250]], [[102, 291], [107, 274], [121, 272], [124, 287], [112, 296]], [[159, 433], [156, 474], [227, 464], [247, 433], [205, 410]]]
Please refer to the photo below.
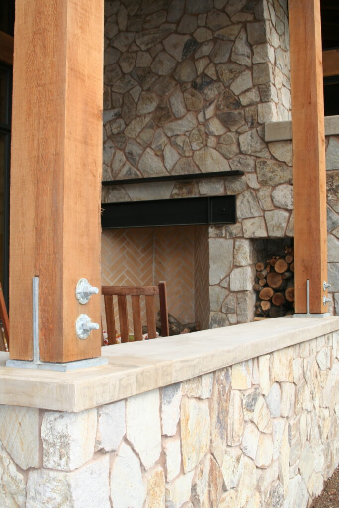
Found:
[[119, 448], [126, 433], [126, 404], [119, 400], [98, 408], [96, 451], [112, 452]]

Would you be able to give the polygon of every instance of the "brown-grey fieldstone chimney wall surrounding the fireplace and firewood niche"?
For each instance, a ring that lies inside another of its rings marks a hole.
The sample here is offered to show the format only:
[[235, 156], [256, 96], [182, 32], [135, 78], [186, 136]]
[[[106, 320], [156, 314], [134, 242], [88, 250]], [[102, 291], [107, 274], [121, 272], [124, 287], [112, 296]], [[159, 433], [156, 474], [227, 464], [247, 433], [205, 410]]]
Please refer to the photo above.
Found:
[[[237, 224], [209, 228], [209, 326], [253, 319], [255, 238], [293, 236], [287, 0], [105, 2], [103, 202], [236, 195]], [[331, 311], [339, 311], [339, 138], [326, 140]], [[242, 170], [243, 176], [142, 183]], [[306, 170], [306, 168], [305, 168]], [[103, 233], [105, 234], [105, 232]]]

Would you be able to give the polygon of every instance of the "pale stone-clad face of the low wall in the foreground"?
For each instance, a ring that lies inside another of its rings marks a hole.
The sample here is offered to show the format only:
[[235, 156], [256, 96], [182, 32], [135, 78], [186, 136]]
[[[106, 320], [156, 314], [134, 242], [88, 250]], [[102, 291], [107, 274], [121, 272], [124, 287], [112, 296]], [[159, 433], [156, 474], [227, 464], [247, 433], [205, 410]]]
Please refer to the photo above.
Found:
[[79, 413], [0, 406], [0, 504], [306, 508], [339, 461], [338, 332]]

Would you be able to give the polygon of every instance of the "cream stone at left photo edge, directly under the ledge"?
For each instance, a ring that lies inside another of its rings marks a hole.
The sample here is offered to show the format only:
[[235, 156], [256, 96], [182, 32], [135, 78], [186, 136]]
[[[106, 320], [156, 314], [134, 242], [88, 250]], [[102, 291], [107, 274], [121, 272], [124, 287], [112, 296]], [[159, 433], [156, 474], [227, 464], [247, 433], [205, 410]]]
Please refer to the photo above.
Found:
[[0, 440], [22, 469], [39, 467], [39, 409], [0, 405]]

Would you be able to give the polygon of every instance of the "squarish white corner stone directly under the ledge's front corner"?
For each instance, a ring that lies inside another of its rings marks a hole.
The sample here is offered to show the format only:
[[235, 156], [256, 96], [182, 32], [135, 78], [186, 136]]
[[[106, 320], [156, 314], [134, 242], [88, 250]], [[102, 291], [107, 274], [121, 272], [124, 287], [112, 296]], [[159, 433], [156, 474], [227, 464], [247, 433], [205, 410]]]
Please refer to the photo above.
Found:
[[41, 425], [44, 467], [72, 471], [93, 457], [97, 409], [46, 411]]

